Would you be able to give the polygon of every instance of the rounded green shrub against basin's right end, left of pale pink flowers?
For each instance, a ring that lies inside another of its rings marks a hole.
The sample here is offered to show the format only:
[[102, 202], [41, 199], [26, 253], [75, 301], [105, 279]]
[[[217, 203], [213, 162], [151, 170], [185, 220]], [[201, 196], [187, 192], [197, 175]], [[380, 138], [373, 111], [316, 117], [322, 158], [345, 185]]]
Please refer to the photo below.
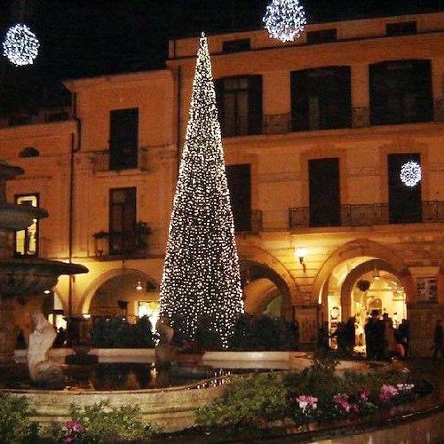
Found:
[[202, 425], [254, 425], [285, 416], [287, 392], [274, 373], [258, 373], [234, 380], [222, 398], [200, 408], [196, 422]]

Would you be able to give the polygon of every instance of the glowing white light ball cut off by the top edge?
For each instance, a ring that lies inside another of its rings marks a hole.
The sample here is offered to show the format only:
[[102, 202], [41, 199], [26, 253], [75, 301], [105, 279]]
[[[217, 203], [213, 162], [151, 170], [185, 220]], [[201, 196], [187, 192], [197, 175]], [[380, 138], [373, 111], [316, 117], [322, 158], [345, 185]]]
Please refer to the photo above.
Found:
[[284, 43], [293, 42], [306, 25], [304, 8], [298, 0], [273, 0], [266, 7], [266, 15], [262, 20], [270, 37]]

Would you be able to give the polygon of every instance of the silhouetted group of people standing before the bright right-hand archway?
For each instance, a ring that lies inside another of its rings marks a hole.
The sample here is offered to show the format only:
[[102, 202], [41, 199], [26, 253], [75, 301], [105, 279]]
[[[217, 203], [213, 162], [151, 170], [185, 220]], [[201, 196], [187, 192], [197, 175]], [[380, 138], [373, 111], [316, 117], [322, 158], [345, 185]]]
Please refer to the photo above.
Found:
[[384, 313], [381, 319], [379, 310], [372, 310], [364, 326], [364, 334], [369, 360], [404, 357], [408, 353], [408, 325], [405, 319], [395, 329], [388, 313]]

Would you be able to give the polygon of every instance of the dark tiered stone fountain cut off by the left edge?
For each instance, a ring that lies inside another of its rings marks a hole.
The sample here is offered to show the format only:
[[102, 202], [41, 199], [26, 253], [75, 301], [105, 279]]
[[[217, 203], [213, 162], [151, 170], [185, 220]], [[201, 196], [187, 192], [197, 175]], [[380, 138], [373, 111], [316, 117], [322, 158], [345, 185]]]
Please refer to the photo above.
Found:
[[10, 234], [23, 230], [46, 210], [6, 202], [6, 181], [24, 170], [0, 162], [0, 365], [14, 363], [17, 327], [12, 298], [32, 296], [56, 285], [60, 274], [87, 273], [85, 266], [39, 258], [12, 258]]

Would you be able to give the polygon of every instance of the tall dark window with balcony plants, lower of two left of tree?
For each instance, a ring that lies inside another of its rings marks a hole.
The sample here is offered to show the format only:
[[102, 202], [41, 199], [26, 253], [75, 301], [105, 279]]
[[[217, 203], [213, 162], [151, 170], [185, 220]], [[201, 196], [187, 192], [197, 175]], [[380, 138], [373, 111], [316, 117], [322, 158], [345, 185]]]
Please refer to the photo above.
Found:
[[135, 251], [136, 187], [109, 190], [109, 254]]

